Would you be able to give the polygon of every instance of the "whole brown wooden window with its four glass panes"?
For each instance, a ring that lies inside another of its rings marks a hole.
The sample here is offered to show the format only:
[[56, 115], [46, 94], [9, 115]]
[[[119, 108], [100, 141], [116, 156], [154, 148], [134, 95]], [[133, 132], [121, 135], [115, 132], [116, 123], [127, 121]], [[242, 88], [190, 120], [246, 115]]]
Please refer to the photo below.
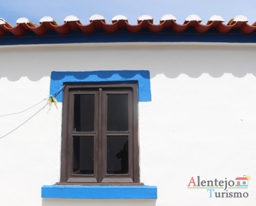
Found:
[[66, 84], [61, 183], [139, 183], [138, 85]]

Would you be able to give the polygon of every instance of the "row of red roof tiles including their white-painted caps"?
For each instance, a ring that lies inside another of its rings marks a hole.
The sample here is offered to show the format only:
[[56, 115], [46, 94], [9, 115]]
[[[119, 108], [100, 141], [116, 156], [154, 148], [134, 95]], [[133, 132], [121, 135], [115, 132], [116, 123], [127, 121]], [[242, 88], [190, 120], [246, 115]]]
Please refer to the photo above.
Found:
[[231, 29], [239, 29], [243, 33], [250, 33], [256, 29], [256, 22], [249, 25], [246, 16], [239, 15], [231, 19], [228, 24], [223, 24], [221, 16], [213, 15], [206, 25], [201, 24], [201, 18], [197, 15], [189, 15], [184, 24], [176, 23], [175, 16], [171, 14], [163, 15], [159, 24], [153, 24], [153, 18], [149, 15], [142, 15], [138, 18], [137, 25], [131, 25], [123, 15], [117, 15], [112, 19], [111, 24], [107, 24], [102, 15], [92, 15], [90, 23], [82, 24], [76, 16], [70, 15], [64, 19], [63, 25], [58, 25], [50, 16], [45, 16], [40, 20], [40, 25], [36, 25], [26, 18], [17, 20], [16, 26], [11, 26], [4, 19], [0, 19], [0, 36], [11, 32], [14, 36], [23, 36], [27, 31], [33, 31], [36, 35], [44, 35], [50, 30], [54, 30], [61, 35], [65, 35], [72, 30], [79, 29], [83, 33], [92, 33], [96, 29], [103, 29], [108, 33], [116, 32], [118, 29], [126, 28], [129, 32], [139, 32], [146, 28], [150, 32], [161, 32], [162, 29], [171, 29], [174, 32], [184, 32], [191, 27], [198, 33], [205, 33], [214, 28], [220, 33], [227, 33]]

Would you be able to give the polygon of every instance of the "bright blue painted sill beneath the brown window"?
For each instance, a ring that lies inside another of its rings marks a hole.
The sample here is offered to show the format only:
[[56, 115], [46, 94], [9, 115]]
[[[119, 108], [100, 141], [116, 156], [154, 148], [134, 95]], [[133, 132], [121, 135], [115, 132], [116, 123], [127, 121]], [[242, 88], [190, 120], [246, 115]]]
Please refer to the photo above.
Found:
[[157, 199], [156, 186], [44, 185], [42, 198]]

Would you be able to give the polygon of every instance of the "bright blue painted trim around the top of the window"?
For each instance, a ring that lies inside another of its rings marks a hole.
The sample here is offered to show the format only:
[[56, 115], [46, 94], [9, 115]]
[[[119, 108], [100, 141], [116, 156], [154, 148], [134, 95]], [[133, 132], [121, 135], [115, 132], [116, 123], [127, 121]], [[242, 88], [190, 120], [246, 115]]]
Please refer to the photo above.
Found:
[[[138, 82], [139, 101], [151, 101], [150, 74], [145, 70], [52, 72], [50, 95], [55, 94], [65, 82]], [[63, 91], [56, 94], [58, 102], [63, 100]]]

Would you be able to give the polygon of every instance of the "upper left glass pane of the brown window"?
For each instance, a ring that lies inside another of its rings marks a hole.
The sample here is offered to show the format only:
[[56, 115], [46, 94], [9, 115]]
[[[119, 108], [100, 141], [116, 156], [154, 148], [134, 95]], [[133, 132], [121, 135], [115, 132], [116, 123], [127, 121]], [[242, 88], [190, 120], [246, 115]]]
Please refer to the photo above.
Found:
[[74, 95], [74, 131], [94, 131], [94, 94]]

